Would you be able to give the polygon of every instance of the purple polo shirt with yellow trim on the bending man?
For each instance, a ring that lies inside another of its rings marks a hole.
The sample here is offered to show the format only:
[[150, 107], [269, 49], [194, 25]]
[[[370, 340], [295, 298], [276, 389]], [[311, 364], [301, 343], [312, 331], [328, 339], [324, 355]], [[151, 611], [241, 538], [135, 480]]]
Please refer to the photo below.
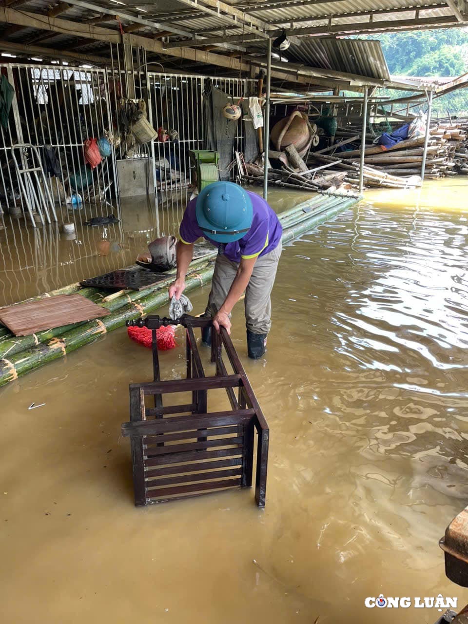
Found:
[[[283, 228], [276, 217], [275, 211], [270, 208], [268, 203], [256, 195], [247, 191], [253, 205], [253, 220], [248, 232], [233, 243], [223, 243], [224, 255], [233, 262], [240, 262], [241, 258], [256, 258], [257, 256], [265, 256], [273, 251], [281, 240]], [[183, 213], [182, 223], [180, 223], [180, 240], [186, 245], [195, 243], [198, 238], [205, 238], [215, 247], [221, 243], [208, 238], [205, 232], [198, 227], [197, 217], [195, 215], [195, 205], [197, 197], [193, 198], [187, 204]]]

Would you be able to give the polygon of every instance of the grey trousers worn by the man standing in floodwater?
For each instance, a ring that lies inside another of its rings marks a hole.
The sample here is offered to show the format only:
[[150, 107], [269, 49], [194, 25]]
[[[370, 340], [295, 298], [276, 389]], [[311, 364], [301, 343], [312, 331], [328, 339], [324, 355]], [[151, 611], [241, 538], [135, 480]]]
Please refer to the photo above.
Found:
[[[282, 251], [278, 246], [265, 256], [257, 258], [252, 275], [245, 289], [245, 326], [253, 334], [268, 334], [271, 328], [271, 290], [275, 283], [276, 269]], [[235, 278], [239, 263], [218, 255], [213, 273], [212, 290], [208, 297], [205, 318], [212, 318], [215, 310], [223, 305]]]

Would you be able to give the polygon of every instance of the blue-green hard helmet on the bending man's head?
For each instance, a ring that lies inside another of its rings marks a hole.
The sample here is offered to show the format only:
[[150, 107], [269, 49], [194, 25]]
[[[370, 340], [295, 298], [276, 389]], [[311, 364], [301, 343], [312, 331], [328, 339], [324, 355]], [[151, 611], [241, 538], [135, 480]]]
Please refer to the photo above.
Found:
[[213, 182], [198, 195], [195, 215], [208, 238], [232, 243], [250, 230], [253, 206], [242, 187], [233, 182]]

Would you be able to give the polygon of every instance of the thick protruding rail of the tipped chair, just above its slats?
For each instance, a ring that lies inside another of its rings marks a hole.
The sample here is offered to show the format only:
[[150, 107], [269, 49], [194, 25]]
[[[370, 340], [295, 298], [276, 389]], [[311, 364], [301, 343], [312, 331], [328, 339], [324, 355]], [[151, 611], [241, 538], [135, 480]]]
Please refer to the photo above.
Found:
[[[134, 385], [134, 384], [132, 384]], [[138, 386], [136, 386], [138, 388]], [[236, 412], [212, 412], [211, 414], [192, 414], [158, 418], [154, 421], [124, 422], [120, 431], [122, 436], [155, 436], [173, 431], [187, 431], [193, 427], [226, 427], [244, 424], [255, 416], [253, 409], [239, 409]]]

